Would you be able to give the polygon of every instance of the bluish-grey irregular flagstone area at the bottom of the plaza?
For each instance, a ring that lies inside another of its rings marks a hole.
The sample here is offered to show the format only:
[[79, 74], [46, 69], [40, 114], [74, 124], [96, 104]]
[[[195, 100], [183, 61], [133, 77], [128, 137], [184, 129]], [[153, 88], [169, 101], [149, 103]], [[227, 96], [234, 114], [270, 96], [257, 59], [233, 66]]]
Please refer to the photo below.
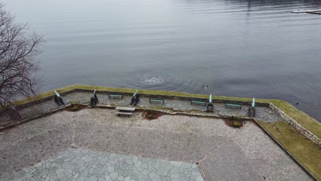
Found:
[[5, 180], [202, 181], [195, 164], [68, 149]]

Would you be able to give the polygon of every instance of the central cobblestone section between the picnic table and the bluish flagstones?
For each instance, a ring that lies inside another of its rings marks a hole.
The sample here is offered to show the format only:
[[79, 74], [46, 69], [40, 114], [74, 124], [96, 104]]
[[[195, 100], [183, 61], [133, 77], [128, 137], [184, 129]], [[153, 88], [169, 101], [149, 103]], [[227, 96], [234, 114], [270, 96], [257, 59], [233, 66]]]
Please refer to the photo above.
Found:
[[[211, 149], [226, 141], [222, 136], [198, 132], [199, 125], [192, 125], [196, 123], [191, 123], [191, 119], [188, 118], [187, 121], [175, 123], [175, 119], [180, 117], [164, 116], [163, 119], [167, 119], [167, 123], [171, 121], [169, 125], [159, 121], [160, 125], [153, 126], [150, 124], [152, 121], [143, 119], [128, 123], [126, 117], [114, 117], [115, 122], [110, 123], [102, 116], [103, 114], [99, 114], [95, 117], [99, 121], [78, 119], [75, 147], [197, 162]], [[78, 117], [86, 115], [80, 114]], [[136, 117], [141, 115], [136, 114]], [[126, 125], [122, 125], [121, 122]], [[167, 130], [170, 125], [173, 125], [173, 129]], [[211, 125], [214, 126], [213, 123]]]

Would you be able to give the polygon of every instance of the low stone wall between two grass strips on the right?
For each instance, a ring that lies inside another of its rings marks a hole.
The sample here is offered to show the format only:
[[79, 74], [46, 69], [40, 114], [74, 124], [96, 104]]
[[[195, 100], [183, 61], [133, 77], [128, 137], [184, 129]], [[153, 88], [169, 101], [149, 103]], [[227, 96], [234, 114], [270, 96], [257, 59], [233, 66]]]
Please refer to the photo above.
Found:
[[301, 134], [303, 134], [305, 137], [309, 138], [313, 143], [316, 143], [319, 147], [321, 147], [321, 140], [318, 138], [318, 136], [314, 135], [313, 133], [309, 132], [309, 130], [305, 129], [302, 125], [300, 125], [296, 120], [292, 119], [292, 117], [289, 117], [283, 110], [280, 110], [278, 107], [274, 106], [273, 104], [270, 104], [270, 108], [274, 110], [277, 114], [280, 115], [284, 119], [285, 122], [292, 125], [296, 130], [298, 130]]

